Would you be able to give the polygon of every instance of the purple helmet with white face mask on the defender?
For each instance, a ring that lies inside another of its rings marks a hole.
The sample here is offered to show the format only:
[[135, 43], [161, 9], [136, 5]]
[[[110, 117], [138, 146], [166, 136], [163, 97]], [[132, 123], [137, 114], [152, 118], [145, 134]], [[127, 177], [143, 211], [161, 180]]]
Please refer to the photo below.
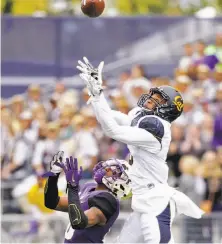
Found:
[[[107, 170], [111, 170], [112, 175], [106, 175]], [[125, 160], [109, 159], [99, 162], [93, 169], [94, 180], [98, 184], [104, 184], [117, 197], [126, 196], [131, 191], [130, 179], [127, 174], [129, 164]]]

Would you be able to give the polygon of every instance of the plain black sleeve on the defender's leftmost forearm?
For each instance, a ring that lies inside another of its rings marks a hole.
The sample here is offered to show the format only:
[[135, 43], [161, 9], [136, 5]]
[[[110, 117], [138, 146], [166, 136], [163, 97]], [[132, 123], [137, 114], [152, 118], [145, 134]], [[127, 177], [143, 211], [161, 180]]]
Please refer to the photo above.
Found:
[[58, 182], [59, 174], [49, 176], [44, 191], [45, 206], [50, 209], [55, 209], [59, 203]]

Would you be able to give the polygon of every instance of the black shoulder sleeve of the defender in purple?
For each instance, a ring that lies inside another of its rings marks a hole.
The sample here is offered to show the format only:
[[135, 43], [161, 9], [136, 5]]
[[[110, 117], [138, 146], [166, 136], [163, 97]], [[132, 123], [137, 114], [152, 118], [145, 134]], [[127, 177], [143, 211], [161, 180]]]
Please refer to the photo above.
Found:
[[89, 198], [89, 207], [97, 207], [105, 215], [107, 221], [118, 210], [117, 199], [109, 192], [102, 192], [96, 196]]

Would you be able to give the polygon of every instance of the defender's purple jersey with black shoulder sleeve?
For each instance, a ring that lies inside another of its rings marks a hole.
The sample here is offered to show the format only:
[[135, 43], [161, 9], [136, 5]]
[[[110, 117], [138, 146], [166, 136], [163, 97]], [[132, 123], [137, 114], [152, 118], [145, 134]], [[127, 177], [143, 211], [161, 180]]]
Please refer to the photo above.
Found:
[[84, 211], [91, 207], [99, 208], [105, 215], [105, 225], [95, 225], [83, 230], [74, 230], [69, 224], [65, 233], [65, 243], [103, 243], [104, 236], [109, 232], [119, 215], [119, 201], [111, 192], [95, 191], [96, 183], [86, 183], [81, 189], [80, 203]]

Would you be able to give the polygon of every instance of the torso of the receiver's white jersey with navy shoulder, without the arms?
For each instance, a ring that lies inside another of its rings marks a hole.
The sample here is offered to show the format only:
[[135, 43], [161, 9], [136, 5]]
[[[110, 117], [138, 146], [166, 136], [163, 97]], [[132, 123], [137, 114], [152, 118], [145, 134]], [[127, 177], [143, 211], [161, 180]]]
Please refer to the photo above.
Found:
[[[136, 113], [132, 114], [133, 111]], [[143, 115], [141, 109], [134, 109], [133, 111], [129, 113], [131, 125], [141, 128], [142, 122], [147, 123], [143, 129], [156, 140], [153, 142], [152, 138], [148, 137], [147, 140], [153, 143], [150, 146], [128, 145], [133, 156], [133, 165], [129, 174], [135, 193], [141, 187], [147, 187], [149, 184], [152, 187], [152, 183], [167, 183], [169, 169], [166, 164], [166, 157], [171, 141], [171, 124], [155, 115]], [[146, 128], [147, 126], [154, 127]], [[158, 135], [155, 135], [156, 132], [157, 134], [159, 132], [159, 138], [157, 138]]]

